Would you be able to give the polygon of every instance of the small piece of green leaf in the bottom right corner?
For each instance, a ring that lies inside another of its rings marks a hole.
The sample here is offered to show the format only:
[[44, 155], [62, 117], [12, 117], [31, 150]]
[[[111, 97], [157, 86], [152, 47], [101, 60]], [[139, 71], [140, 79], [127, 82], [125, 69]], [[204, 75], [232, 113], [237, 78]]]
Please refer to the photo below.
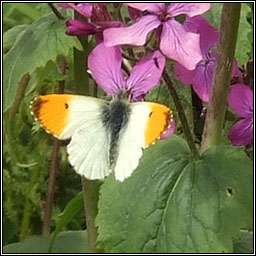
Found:
[[253, 253], [253, 233], [241, 231], [241, 239], [234, 242], [234, 253]]

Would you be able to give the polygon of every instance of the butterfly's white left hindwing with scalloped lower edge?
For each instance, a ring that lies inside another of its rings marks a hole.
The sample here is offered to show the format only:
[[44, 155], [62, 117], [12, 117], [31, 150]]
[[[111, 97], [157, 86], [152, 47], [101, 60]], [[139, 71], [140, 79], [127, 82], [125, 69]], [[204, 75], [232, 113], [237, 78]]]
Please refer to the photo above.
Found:
[[69, 162], [87, 179], [103, 179], [109, 170], [110, 137], [100, 116], [86, 122], [72, 136], [67, 146]]

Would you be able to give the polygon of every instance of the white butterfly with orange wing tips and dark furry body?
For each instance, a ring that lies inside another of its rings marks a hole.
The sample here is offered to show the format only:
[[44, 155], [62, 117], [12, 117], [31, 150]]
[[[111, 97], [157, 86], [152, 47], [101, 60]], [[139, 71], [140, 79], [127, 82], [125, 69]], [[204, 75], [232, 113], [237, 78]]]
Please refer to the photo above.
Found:
[[68, 160], [87, 179], [104, 179], [114, 172], [118, 181], [129, 177], [143, 149], [170, 127], [172, 111], [158, 103], [111, 101], [94, 97], [50, 94], [36, 97], [31, 113], [60, 140], [70, 139]]

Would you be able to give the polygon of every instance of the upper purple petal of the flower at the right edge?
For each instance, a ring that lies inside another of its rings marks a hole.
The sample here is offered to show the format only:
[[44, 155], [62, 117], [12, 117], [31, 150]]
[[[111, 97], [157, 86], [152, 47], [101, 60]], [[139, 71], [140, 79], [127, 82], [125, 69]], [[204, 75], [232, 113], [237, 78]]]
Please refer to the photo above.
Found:
[[232, 85], [228, 96], [228, 104], [241, 117], [252, 115], [253, 93], [250, 87], [244, 84]]

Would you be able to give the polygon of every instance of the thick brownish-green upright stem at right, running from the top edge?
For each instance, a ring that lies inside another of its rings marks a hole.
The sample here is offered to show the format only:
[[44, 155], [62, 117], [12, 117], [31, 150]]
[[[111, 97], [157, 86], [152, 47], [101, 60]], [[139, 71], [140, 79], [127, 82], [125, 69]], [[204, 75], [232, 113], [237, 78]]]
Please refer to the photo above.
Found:
[[217, 60], [214, 70], [211, 99], [209, 102], [201, 152], [221, 142], [227, 108], [232, 65], [236, 47], [240, 18], [240, 3], [224, 3], [220, 25], [220, 39], [217, 46]]

